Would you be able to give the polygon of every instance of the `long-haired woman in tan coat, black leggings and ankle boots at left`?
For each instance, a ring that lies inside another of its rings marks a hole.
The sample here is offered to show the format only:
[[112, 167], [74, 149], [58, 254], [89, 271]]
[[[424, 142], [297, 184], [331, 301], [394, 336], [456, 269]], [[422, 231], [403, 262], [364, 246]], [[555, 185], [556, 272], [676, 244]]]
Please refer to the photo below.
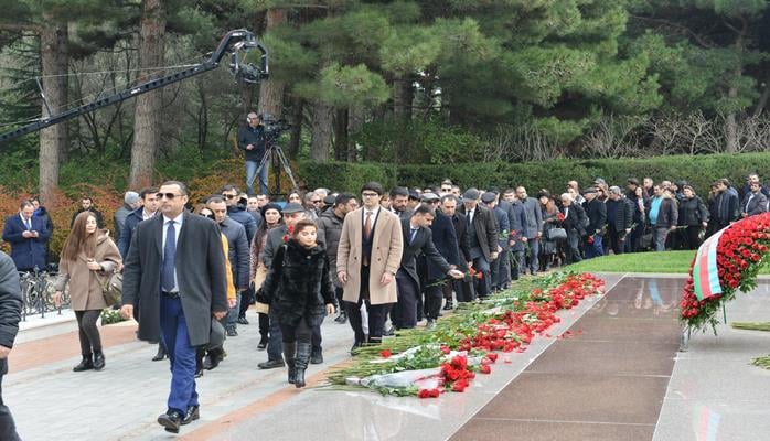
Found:
[[77, 319], [83, 355], [83, 361], [73, 368], [74, 372], [101, 370], [105, 367], [96, 321], [101, 310], [111, 306], [105, 300], [104, 283], [120, 265], [118, 247], [109, 238], [108, 230], [98, 229], [94, 213], [78, 214], [64, 241], [54, 294], [54, 302], [61, 304], [62, 291], [69, 282], [69, 298]]

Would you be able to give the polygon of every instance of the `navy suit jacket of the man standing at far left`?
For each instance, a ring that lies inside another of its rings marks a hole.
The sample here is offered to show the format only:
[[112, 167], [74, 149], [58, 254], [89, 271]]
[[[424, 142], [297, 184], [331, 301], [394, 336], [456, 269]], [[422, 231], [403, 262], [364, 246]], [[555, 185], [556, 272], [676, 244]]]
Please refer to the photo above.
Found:
[[19, 213], [6, 218], [2, 230], [2, 239], [11, 244], [11, 258], [17, 269], [31, 270], [34, 267], [41, 270], [45, 268], [45, 245], [51, 233], [45, 228], [45, 220], [32, 216], [30, 219], [32, 229], [38, 232], [38, 237], [25, 238], [22, 234], [26, 230]]

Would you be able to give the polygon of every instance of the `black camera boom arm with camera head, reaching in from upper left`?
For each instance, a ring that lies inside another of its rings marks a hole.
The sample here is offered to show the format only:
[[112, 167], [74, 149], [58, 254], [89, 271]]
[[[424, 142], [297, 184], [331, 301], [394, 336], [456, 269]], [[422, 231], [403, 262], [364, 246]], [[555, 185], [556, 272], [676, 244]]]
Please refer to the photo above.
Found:
[[[244, 62], [246, 54], [253, 50], [257, 50], [261, 53], [258, 66]], [[117, 94], [96, 99], [92, 103], [64, 110], [60, 114], [42, 117], [41, 119], [34, 122], [22, 126], [12, 131], [0, 133], [0, 143], [10, 141], [12, 139], [22, 137], [28, 133], [42, 130], [46, 127], [51, 127], [60, 122], [64, 122], [66, 120], [76, 118], [81, 115], [92, 112], [96, 109], [100, 109], [103, 107], [111, 106], [126, 99], [133, 98], [138, 95], [165, 87], [170, 84], [192, 78], [193, 76], [206, 73], [208, 71], [213, 71], [220, 66], [220, 62], [227, 53], [231, 53], [232, 57], [232, 63], [229, 64], [231, 73], [233, 74], [233, 76], [235, 76], [237, 80], [243, 80], [246, 83], [258, 83], [259, 80], [268, 77], [269, 73], [267, 49], [256, 41], [252, 32], [243, 29], [234, 30], [229, 31], [222, 39], [222, 41], [220, 41], [220, 44], [217, 45], [216, 50], [211, 54], [208, 60], [202, 63], [175, 72], [173, 74], [162, 76], [160, 78], [151, 79], [138, 86], [129, 87], [127, 89], [118, 92]], [[44, 96], [43, 100], [45, 100]]]

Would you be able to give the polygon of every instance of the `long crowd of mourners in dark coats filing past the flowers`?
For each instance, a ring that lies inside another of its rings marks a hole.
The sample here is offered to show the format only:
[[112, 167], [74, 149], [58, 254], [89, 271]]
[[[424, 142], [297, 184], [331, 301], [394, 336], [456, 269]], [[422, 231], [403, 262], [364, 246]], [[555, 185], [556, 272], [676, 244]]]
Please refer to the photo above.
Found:
[[[717, 180], [703, 198], [684, 181], [630, 178], [621, 189], [597, 178], [534, 195], [445, 180], [388, 192], [376, 182], [357, 194], [292, 191], [285, 201], [224, 185], [193, 204], [183, 183], [169, 181], [126, 193], [115, 236], [93, 201], [81, 200], [54, 300], [68, 283], [83, 356], [73, 370], [101, 370], [96, 322], [110, 306], [105, 281], [122, 272], [121, 313], [139, 322], [140, 340], [158, 344], [153, 361], [170, 359], [168, 410], [158, 421], [178, 432], [200, 416], [194, 378], [223, 362], [225, 338], [250, 324], [252, 306], [257, 348], [267, 354], [258, 367], [286, 367], [288, 383], [303, 387], [308, 365], [323, 363], [327, 315], [350, 324], [355, 354], [399, 330], [434, 327], [442, 311], [527, 273], [608, 254], [695, 249], [768, 211], [769, 200], [757, 174], [740, 190]], [[52, 230], [38, 200], [6, 219], [18, 271], [45, 267]]]

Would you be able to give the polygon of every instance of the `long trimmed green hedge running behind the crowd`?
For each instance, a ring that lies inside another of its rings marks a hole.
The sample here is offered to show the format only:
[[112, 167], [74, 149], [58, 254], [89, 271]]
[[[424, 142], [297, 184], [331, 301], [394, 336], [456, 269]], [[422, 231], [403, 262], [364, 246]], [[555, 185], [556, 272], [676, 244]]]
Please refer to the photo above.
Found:
[[751, 172], [770, 178], [770, 153], [671, 155], [652, 159], [558, 159], [528, 163], [464, 163], [454, 165], [378, 164], [312, 161], [300, 162], [300, 176], [310, 189], [319, 186], [357, 192], [366, 181], [381, 182], [386, 189], [394, 185], [437, 185], [445, 178], [461, 187], [525, 185], [531, 194], [539, 189], [562, 192], [569, 180], [580, 185], [603, 178], [610, 185], [624, 186], [628, 178], [685, 180], [698, 194], [707, 194], [709, 184], [727, 178], [736, 186], [744, 185]]

